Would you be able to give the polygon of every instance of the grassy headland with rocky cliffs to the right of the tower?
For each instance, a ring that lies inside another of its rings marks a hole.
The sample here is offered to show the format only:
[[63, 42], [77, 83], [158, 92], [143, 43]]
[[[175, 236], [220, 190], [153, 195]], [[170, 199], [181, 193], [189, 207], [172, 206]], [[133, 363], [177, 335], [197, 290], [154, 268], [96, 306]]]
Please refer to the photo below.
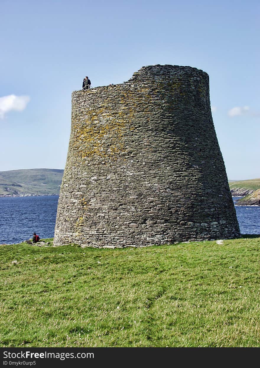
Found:
[[233, 197], [243, 197], [236, 202], [236, 205], [260, 205], [260, 178], [229, 181], [228, 184]]

